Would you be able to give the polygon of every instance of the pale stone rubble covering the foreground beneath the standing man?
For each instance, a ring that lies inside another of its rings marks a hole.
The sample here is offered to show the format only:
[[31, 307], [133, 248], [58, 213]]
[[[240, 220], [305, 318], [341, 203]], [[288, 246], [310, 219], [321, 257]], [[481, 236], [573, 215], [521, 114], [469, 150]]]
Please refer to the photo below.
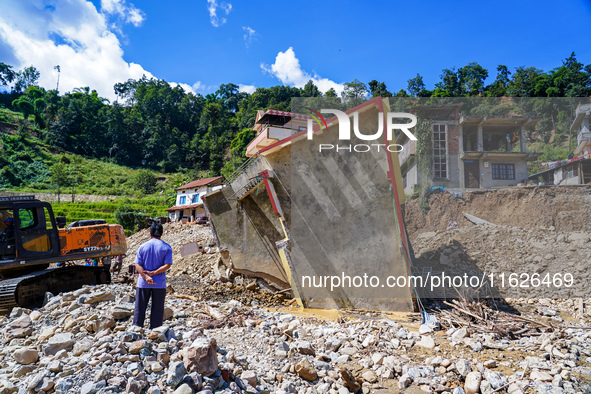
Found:
[[143, 330], [131, 325], [127, 285], [63, 293], [0, 318], [0, 392], [591, 390], [590, 333], [577, 322], [509, 339], [469, 325], [433, 332], [401, 315], [324, 321], [286, 312], [169, 295], [165, 325]]

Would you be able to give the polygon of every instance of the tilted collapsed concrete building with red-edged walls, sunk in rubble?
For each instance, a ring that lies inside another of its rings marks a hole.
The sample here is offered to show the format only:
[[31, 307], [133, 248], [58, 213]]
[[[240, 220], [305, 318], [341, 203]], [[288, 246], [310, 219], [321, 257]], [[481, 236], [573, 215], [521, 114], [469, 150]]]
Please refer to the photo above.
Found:
[[[388, 100], [378, 97], [347, 115], [354, 126], [376, 130], [388, 111]], [[415, 309], [409, 286], [356, 283], [364, 276], [367, 282], [409, 274], [397, 153], [346, 146], [319, 152], [321, 144], [334, 146], [339, 122], [331, 118], [326, 127], [314, 127], [310, 140], [308, 119], [259, 111], [258, 134], [247, 149], [251, 158], [221, 190], [204, 197], [225, 262], [291, 288], [305, 307]], [[350, 144], [360, 142], [367, 141], [353, 137]], [[341, 286], [333, 286], [335, 278]]]

